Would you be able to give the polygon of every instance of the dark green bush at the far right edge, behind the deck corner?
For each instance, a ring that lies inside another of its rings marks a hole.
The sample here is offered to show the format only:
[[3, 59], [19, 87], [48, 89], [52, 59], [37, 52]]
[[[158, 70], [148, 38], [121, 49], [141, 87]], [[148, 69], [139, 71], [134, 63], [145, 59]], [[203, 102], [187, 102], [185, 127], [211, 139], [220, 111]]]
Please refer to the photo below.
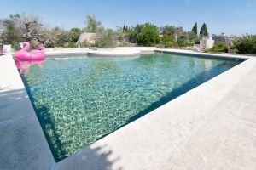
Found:
[[237, 39], [232, 48], [240, 54], [256, 54], [256, 35]]

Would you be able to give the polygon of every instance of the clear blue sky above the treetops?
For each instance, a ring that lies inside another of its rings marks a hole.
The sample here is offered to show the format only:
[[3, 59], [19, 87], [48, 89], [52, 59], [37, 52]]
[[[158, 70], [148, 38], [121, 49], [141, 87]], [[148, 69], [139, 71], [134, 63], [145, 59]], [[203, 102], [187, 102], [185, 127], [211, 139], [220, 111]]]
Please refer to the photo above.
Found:
[[0, 0], [0, 18], [17, 12], [66, 29], [82, 28], [85, 16], [96, 14], [111, 28], [151, 22], [189, 31], [197, 21], [206, 22], [211, 34], [256, 34], [256, 0]]

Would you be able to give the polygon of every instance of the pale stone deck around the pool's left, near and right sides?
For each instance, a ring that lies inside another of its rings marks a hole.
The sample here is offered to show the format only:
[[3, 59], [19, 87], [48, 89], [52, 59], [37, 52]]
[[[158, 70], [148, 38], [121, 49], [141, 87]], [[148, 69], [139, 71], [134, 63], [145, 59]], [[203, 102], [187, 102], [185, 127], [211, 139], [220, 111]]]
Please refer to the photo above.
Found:
[[223, 56], [247, 60], [58, 163], [0, 56], [0, 169], [256, 169], [256, 58]]

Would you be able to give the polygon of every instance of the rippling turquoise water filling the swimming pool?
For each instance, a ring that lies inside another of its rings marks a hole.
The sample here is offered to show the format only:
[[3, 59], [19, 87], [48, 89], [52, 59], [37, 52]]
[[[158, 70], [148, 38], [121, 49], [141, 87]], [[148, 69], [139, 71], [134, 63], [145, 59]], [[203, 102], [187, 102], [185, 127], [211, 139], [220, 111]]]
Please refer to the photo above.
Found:
[[22, 63], [20, 75], [60, 161], [239, 63], [177, 54], [70, 56]]

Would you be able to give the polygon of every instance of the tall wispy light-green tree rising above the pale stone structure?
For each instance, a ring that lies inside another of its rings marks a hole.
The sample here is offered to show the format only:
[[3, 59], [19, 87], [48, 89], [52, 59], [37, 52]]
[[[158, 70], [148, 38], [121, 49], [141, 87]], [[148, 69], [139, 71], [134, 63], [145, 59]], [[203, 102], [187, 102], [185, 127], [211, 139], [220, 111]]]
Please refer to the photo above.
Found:
[[94, 14], [89, 14], [86, 16], [86, 27], [84, 28], [84, 31], [96, 33], [102, 28], [102, 22], [97, 21]]

